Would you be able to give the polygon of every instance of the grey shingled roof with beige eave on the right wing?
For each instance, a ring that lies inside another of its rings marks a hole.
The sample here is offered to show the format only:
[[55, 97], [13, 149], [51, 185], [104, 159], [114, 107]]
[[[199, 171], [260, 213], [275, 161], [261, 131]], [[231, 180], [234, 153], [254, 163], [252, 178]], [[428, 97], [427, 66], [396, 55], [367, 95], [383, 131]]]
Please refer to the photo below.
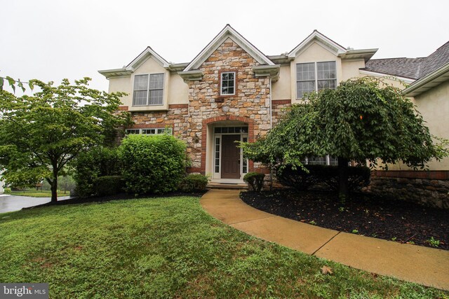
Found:
[[413, 97], [449, 80], [449, 41], [427, 57], [384, 58], [369, 60], [365, 65], [362, 70], [415, 79], [403, 90]]

